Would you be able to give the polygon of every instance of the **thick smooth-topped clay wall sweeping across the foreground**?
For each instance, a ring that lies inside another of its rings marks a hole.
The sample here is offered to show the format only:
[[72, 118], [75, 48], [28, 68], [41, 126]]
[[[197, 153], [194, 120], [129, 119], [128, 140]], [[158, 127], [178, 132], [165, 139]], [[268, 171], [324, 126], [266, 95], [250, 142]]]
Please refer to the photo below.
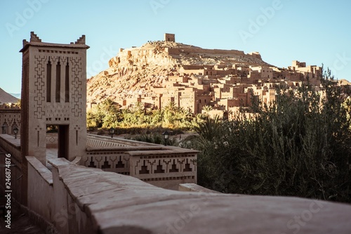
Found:
[[64, 234], [348, 234], [351, 230], [349, 204], [165, 190], [131, 176], [77, 166], [64, 158], [51, 161], [51, 184], [39, 161], [27, 159], [29, 183], [37, 183], [29, 186], [29, 204]]

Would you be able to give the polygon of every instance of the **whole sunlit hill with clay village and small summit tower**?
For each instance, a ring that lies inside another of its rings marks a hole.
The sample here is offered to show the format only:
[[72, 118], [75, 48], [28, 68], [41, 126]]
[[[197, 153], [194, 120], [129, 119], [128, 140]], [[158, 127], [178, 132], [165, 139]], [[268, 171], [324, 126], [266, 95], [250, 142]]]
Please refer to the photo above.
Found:
[[173, 102], [194, 114], [209, 105], [213, 115], [223, 115], [249, 106], [252, 95], [265, 103], [274, 100], [277, 84], [295, 89], [308, 78], [319, 86], [322, 73], [322, 67], [296, 60], [290, 67], [275, 67], [258, 52], [181, 44], [175, 34], [141, 47], [121, 48], [109, 65], [88, 80], [88, 108], [111, 98], [121, 108], [139, 102], [157, 109]]

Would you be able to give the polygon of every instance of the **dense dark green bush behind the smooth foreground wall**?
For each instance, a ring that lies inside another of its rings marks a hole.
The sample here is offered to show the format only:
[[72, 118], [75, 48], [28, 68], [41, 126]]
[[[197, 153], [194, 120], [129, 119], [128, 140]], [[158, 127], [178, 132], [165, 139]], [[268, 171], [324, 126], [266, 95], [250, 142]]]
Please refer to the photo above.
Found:
[[199, 124], [199, 136], [183, 141], [201, 151], [199, 184], [224, 193], [351, 202], [350, 106], [328, 74], [322, 81], [324, 92], [307, 84], [277, 89], [270, 105], [253, 100], [252, 118]]

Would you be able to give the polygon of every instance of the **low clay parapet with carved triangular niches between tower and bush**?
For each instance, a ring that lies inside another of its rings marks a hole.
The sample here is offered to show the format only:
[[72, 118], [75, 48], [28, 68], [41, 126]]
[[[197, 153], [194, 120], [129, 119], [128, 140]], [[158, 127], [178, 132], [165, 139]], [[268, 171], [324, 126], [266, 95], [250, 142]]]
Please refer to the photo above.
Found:
[[86, 156], [81, 158], [80, 164], [131, 175], [154, 186], [178, 190], [180, 183], [197, 183], [197, 152], [89, 135]]

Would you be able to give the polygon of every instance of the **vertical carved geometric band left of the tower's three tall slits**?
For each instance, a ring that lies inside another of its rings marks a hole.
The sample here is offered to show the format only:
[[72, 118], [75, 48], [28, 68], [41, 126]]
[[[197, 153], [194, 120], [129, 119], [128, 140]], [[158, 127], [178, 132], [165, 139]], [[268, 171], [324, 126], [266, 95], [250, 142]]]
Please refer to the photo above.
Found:
[[37, 119], [41, 119], [44, 115], [44, 108], [43, 108], [43, 103], [44, 103], [44, 63], [46, 61], [46, 56], [34, 56], [34, 59], [36, 60], [36, 63], [34, 63], [36, 66], [34, 67], [34, 79], [36, 81], [34, 82], [35, 86], [35, 96], [34, 96], [34, 116], [37, 117]]

